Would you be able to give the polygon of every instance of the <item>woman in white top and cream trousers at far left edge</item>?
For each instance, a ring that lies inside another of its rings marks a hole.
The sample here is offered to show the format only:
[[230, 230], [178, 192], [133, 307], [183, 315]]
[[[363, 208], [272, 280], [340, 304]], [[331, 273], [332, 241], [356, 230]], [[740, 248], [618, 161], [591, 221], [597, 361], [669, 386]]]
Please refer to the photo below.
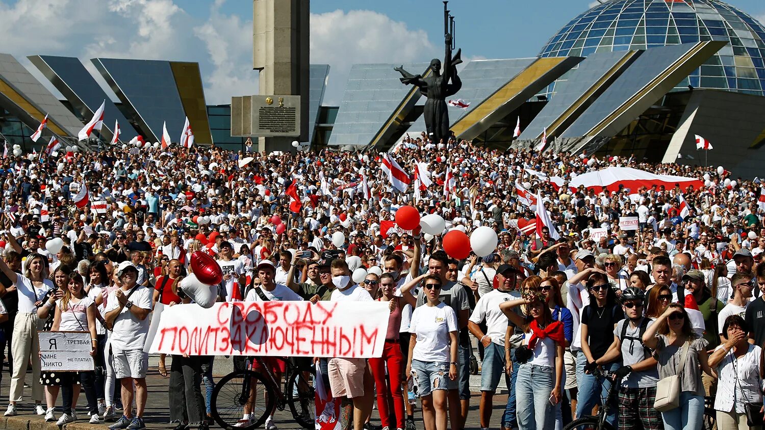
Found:
[[[16, 403], [21, 402], [24, 391], [24, 376], [28, 364], [32, 364], [32, 400], [34, 412], [44, 415], [45, 409], [41, 401], [43, 397], [40, 384], [40, 342], [37, 339], [37, 305], [45, 293], [54, 288], [51, 280], [47, 279], [47, 259], [36, 252], [27, 256], [24, 274], [15, 273], [0, 259], [0, 270], [8, 276], [18, 290], [18, 313], [13, 324], [11, 350], [13, 355], [13, 375], [11, 376], [10, 404], [5, 416], [18, 413]], [[5, 289], [3, 287], [0, 287]]]

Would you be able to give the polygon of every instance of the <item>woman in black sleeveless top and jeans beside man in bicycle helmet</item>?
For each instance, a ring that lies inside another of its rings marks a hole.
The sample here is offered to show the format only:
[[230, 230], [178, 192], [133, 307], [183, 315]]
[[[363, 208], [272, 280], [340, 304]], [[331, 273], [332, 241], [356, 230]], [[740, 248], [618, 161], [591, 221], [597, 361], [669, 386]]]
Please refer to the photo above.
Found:
[[[577, 356], [576, 376], [578, 385], [576, 415], [588, 415], [601, 399], [608, 396], [610, 381], [598, 380], [592, 374], [598, 365], [595, 360], [603, 357], [614, 343], [614, 326], [624, 319], [624, 312], [617, 303], [617, 295], [608, 282], [608, 276], [595, 272], [587, 281], [590, 304], [584, 306], [581, 313], [581, 352]], [[617, 370], [621, 361], [617, 360], [603, 366], [606, 370]], [[611, 409], [607, 421], [616, 427], [617, 411]]]

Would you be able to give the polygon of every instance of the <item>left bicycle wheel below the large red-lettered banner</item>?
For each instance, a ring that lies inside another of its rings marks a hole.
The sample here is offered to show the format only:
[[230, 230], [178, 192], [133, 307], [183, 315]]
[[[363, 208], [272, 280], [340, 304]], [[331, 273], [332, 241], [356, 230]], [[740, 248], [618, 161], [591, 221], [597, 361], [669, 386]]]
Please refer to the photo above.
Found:
[[[263, 425], [274, 410], [276, 390], [265, 377], [252, 370], [227, 374], [215, 385], [210, 398], [210, 415], [226, 430], [252, 430]], [[247, 411], [249, 424], [240, 422]]]

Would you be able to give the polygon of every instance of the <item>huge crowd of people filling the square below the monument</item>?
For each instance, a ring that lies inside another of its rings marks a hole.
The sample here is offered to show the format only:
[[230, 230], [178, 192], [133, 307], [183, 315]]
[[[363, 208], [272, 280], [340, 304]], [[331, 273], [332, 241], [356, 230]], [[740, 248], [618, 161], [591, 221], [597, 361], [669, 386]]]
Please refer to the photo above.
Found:
[[[383, 168], [391, 160], [418, 176], [403, 192]], [[705, 185], [567, 186], [604, 167]], [[413, 430], [421, 409], [427, 430], [458, 430], [476, 398], [481, 428], [561, 429], [601, 411], [614, 428], [695, 430], [705, 403], [718, 428], [760, 428], [765, 211], [759, 179], [732, 175], [424, 136], [386, 154], [115, 147], [4, 158], [5, 415], [24, 408], [28, 383], [26, 404], [47, 422], [76, 421], [84, 391], [90, 423], [145, 428], [151, 311], [190, 301], [178, 283], [203, 251], [223, 271], [220, 301], [389, 302], [382, 357], [324, 361], [354, 430], [378, 424], [375, 401], [384, 429]], [[535, 207], [519, 184], [551, 225], [526, 228]], [[446, 230], [493, 228], [499, 244], [455, 259], [440, 235], [392, 226], [403, 205], [441, 215]], [[624, 216], [637, 230], [620, 230]], [[353, 282], [360, 267], [367, 275]], [[44, 330], [89, 331], [96, 370], [41, 372]], [[158, 371], [177, 430], [207, 428], [212, 357], [161, 356]], [[509, 396], [493, 417], [500, 380]], [[238, 426], [255, 419], [246, 411]], [[277, 428], [272, 416], [265, 428]]]

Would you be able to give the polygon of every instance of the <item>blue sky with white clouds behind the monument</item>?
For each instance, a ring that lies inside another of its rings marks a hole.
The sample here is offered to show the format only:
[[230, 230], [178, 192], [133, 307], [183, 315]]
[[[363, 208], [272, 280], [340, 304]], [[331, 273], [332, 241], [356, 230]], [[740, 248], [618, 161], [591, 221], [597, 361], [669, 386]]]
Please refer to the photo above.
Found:
[[[729, 4], [765, 22], [762, 0]], [[597, 0], [451, 0], [464, 60], [535, 57], [571, 18]], [[330, 65], [324, 105], [338, 105], [354, 63], [427, 62], [443, 57], [438, 0], [314, 0], [311, 63]], [[11, 53], [54, 94], [26, 59], [46, 54], [194, 61], [208, 105], [258, 92], [252, 70], [249, 0], [0, 0], [0, 52]]]

